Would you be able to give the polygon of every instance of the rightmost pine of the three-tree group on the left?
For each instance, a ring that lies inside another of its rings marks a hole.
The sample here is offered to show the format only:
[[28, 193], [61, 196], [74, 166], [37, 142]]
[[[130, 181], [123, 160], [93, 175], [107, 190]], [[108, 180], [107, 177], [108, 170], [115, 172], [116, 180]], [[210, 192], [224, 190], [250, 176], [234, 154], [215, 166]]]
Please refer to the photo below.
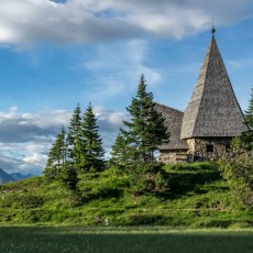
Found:
[[78, 142], [79, 151], [76, 155], [79, 154], [79, 167], [84, 170], [101, 170], [103, 168], [105, 150], [90, 103], [84, 113]]

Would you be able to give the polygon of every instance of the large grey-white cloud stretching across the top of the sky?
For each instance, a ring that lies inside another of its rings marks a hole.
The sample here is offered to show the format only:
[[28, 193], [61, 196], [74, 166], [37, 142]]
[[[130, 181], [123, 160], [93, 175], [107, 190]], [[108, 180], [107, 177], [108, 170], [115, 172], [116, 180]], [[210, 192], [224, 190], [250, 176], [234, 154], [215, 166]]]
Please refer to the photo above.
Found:
[[180, 38], [252, 16], [248, 0], [1, 0], [0, 42], [84, 43], [164, 36]]

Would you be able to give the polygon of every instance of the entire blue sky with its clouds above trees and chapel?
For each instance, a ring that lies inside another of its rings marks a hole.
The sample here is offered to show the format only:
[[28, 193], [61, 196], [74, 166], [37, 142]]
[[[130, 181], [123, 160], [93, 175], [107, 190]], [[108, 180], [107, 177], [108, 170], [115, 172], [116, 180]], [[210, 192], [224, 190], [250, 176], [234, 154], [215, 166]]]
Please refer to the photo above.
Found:
[[0, 167], [37, 174], [77, 102], [91, 101], [108, 153], [141, 74], [184, 110], [211, 38], [242, 109], [253, 84], [248, 0], [0, 0]]

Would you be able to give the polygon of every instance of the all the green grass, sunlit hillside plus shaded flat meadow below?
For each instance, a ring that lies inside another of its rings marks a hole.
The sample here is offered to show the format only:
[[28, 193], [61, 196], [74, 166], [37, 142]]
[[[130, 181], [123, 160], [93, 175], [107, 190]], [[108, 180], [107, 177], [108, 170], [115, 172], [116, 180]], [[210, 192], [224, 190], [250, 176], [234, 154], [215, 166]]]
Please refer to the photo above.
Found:
[[165, 167], [164, 195], [136, 195], [113, 167], [78, 193], [33, 177], [0, 186], [0, 252], [253, 252], [253, 211], [218, 164]]

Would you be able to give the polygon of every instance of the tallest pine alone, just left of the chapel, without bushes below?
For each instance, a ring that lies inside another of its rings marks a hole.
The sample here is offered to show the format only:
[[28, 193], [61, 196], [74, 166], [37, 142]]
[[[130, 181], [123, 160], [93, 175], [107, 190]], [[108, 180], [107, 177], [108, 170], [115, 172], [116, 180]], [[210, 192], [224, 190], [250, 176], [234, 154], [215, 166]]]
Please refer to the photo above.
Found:
[[125, 128], [120, 130], [130, 147], [127, 158], [134, 164], [136, 162], [154, 163], [154, 152], [158, 145], [168, 142], [169, 134], [167, 134], [164, 124], [165, 119], [156, 110], [156, 105], [153, 102], [153, 94], [146, 91], [143, 75], [138, 94], [127, 110], [131, 114], [131, 121], [124, 121]]

